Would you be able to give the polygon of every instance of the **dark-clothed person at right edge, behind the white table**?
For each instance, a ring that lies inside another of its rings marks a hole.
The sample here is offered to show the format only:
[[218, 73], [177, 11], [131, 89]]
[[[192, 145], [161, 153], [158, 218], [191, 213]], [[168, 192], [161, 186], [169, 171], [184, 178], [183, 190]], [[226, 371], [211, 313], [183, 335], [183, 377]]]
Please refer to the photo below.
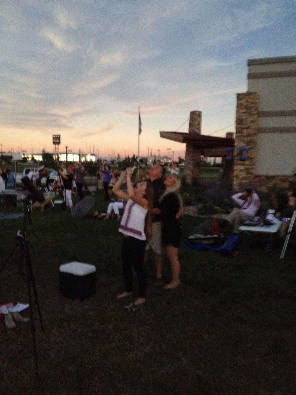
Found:
[[279, 237], [285, 237], [290, 224], [293, 211], [296, 210], [296, 192], [289, 191], [279, 196], [278, 206], [275, 213], [277, 218], [282, 218], [279, 227]]

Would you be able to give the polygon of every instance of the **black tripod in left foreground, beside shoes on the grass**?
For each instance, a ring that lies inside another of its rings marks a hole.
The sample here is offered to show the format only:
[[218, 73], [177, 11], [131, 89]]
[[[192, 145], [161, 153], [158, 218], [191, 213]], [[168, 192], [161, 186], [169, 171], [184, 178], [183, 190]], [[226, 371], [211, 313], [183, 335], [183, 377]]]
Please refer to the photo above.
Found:
[[[29, 313], [30, 313], [30, 325], [31, 325], [31, 334], [32, 334], [32, 345], [33, 345], [33, 356], [34, 356], [34, 363], [35, 363], [36, 378], [37, 378], [37, 380], [39, 380], [36, 339], [35, 339], [36, 329], [35, 329], [35, 325], [34, 325], [34, 316], [33, 316], [33, 308], [32, 308], [31, 286], [32, 286], [33, 292], [34, 292], [35, 304], [36, 304], [37, 311], [38, 311], [41, 330], [43, 332], [44, 332], [44, 328], [43, 328], [41, 312], [40, 312], [40, 308], [39, 308], [39, 301], [38, 301], [35, 280], [34, 280], [34, 275], [33, 275], [33, 270], [32, 270], [32, 263], [31, 263], [30, 252], [29, 252], [29, 242], [26, 239], [27, 219], [28, 219], [29, 223], [32, 224], [30, 208], [29, 208], [30, 199], [31, 199], [31, 197], [24, 199], [24, 221], [23, 221], [22, 230], [19, 230], [17, 232], [16, 245], [13, 248], [13, 250], [12, 250], [11, 254], [9, 255], [9, 257], [7, 258], [7, 260], [5, 261], [4, 265], [0, 269], [0, 274], [2, 273], [6, 264], [9, 262], [10, 258], [13, 256], [14, 252], [19, 247], [20, 248], [19, 274], [20, 275], [24, 274], [26, 276], [28, 302], [29, 302]], [[22, 273], [23, 267], [24, 267], [24, 273]]]

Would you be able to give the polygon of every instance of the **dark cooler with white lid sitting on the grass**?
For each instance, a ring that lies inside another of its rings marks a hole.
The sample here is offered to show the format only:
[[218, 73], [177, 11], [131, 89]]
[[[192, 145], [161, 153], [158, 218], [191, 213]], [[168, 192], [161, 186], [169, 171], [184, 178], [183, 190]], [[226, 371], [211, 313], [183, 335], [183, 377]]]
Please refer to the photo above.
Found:
[[69, 262], [60, 265], [60, 295], [85, 299], [96, 293], [96, 267], [89, 263]]

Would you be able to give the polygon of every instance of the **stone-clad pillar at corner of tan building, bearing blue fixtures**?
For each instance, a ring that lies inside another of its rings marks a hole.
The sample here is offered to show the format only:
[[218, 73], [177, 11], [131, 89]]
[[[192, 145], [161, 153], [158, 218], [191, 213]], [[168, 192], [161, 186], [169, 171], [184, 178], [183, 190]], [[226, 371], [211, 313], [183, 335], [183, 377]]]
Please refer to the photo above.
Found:
[[[255, 186], [255, 165], [258, 129], [258, 93], [236, 95], [236, 135], [234, 147], [233, 188]], [[249, 147], [248, 159], [240, 160], [240, 147]]]

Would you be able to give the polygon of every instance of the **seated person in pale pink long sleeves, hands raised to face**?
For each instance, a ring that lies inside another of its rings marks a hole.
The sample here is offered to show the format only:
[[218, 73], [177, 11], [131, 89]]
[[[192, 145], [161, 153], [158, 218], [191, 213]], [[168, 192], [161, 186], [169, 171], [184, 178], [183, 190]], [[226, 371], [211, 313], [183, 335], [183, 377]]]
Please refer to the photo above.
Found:
[[231, 199], [237, 203], [240, 208], [234, 208], [232, 212], [223, 221], [223, 226], [226, 222], [233, 224], [233, 233], [238, 233], [238, 228], [243, 225], [244, 222], [252, 220], [260, 207], [260, 199], [257, 193], [247, 188], [244, 192], [232, 195]]

